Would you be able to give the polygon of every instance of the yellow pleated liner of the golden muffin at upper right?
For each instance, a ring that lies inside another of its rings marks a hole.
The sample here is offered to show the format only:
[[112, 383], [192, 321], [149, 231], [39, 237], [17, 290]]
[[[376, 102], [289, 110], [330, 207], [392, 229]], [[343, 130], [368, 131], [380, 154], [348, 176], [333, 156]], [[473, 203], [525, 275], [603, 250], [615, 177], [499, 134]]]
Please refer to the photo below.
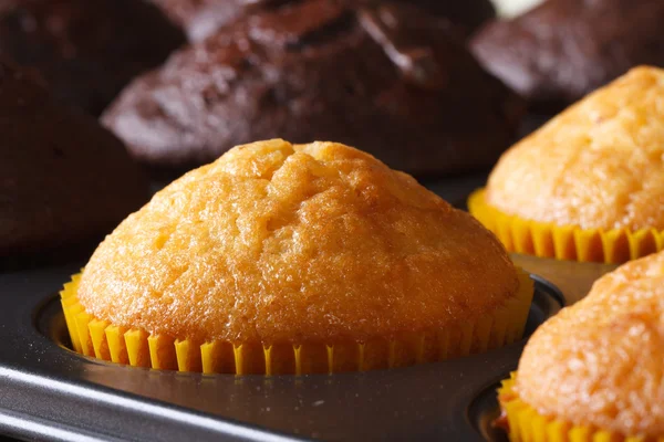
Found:
[[509, 252], [580, 262], [620, 264], [664, 249], [664, 232], [655, 229], [581, 229], [506, 214], [489, 206], [485, 189], [468, 199], [468, 210], [494, 232]]

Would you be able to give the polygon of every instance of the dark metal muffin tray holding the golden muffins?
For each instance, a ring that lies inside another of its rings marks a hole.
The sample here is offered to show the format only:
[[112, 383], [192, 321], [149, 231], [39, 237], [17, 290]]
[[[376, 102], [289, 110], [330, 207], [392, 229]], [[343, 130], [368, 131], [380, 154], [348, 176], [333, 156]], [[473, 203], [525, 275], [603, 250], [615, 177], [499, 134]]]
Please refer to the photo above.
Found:
[[[610, 266], [515, 256], [577, 301]], [[66, 348], [58, 298], [82, 263], [0, 272], [0, 433], [27, 440], [499, 440], [495, 387], [526, 339], [393, 370], [205, 376], [98, 362]], [[536, 278], [531, 333], [562, 302]]]

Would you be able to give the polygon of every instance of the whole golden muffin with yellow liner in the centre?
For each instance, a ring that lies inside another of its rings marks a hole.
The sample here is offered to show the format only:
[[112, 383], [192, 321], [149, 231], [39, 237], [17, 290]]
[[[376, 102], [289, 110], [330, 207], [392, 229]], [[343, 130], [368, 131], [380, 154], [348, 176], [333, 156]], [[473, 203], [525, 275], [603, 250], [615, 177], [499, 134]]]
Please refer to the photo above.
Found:
[[158, 192], [106, 236], [63, 306], [89, 356], [273, 375], [502, 346], [531, 297], [498, 240], [412, 177], [344, 145], [276, 139]]

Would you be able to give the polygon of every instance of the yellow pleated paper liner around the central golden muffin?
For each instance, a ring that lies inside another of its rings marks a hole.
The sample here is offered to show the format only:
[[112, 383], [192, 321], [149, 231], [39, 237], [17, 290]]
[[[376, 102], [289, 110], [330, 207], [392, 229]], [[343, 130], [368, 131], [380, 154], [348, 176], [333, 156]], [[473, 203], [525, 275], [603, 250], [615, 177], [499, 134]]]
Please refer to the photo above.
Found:
[[533, 282], [519, 271], [517, 296], [477, 323], [392, 339], [292, 344], [197, 343], [151, 335], [85, 313], [76, 296], [81, 275], [61, 294], [73, 349], [106, 361], [165, 370], [236, 375], [307, 375], [405, 367], [466, 356], [520, 339], [533, 295]]

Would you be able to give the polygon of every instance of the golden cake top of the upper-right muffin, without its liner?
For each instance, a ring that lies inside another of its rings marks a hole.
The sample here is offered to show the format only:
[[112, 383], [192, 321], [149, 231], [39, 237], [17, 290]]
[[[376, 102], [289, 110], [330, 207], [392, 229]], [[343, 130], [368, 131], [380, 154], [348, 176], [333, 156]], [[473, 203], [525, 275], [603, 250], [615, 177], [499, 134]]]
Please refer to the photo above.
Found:
[[637, 67], [504, 154], [500, 211], [582, 229], [664, 229], [664, 71]]

